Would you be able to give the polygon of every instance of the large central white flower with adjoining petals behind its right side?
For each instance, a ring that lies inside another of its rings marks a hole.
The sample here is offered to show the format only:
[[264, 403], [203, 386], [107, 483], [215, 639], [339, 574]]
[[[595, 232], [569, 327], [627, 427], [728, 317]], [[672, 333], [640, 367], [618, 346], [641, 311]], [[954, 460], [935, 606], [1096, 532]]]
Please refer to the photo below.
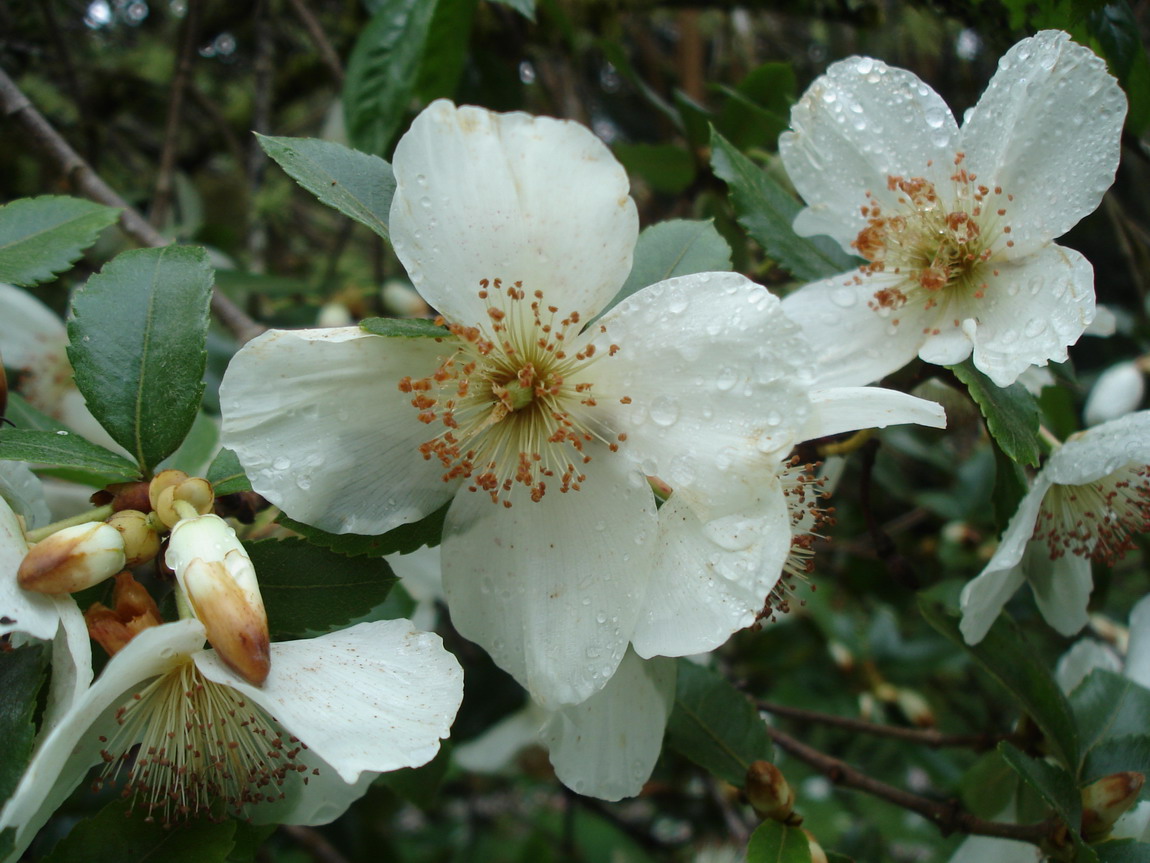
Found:
[[[798, 328], [736, 274], [652, 285], [586, 326], [638, 227], [583, 127], [438, 101], [393, 168], [396, 252], [448, 331], [268, 333], [224, 377], [224, 443], [253, 488], [327, 530], [451, 501], [453, 623], [547, 708], [600, 689], [629, 642], [699, 652], [753, 620], [788, 545], [781, 490], [753, 465], [844, 419], [942, 422], [902, 394], [812, 396]], [[708, 572], [677, 568], [681, 542], [710, 550]]]

